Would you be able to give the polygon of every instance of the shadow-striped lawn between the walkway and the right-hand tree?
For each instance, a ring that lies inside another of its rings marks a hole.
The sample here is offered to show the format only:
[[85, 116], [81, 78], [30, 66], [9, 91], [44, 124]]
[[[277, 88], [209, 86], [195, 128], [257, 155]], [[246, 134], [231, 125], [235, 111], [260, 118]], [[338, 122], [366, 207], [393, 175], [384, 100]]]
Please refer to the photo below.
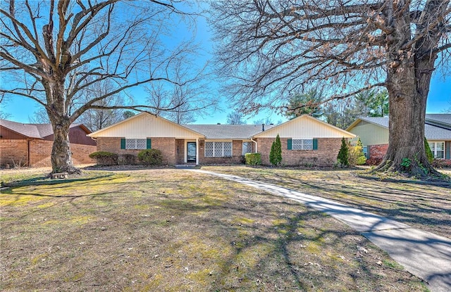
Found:
[[[383, 181], [366, 170], [202, 167], [352, 205], [451, 238], [451, 184]], [[444, 172], [450, 174], [450, 172]]]

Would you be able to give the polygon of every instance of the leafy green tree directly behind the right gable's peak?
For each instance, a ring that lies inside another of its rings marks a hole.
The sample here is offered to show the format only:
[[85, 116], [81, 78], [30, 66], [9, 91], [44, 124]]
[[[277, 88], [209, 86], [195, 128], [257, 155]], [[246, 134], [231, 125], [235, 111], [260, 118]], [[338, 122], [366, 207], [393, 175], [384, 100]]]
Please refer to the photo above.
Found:
[[304, 94], [294, 94], [288, 99], [284, 114], [289, 119], [299, 117], [299, 115], [311, 115], [319, 118], [323, 115], [322, 101], [323, 91], [317, 89], [310, 89]]

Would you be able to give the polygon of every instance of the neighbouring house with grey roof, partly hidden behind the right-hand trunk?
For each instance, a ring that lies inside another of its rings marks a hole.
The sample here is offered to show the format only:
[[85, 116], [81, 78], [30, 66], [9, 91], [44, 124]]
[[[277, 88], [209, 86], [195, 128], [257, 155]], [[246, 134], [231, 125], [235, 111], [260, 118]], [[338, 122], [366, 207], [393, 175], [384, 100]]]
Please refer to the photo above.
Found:
[[[388, 148], [388, 118], [358, 118], [346, 130], [360, 138], [369, 163], [383, 160]], [[424, 135], [434, 158], [450, 159], [451, 114], [426, 114]]]

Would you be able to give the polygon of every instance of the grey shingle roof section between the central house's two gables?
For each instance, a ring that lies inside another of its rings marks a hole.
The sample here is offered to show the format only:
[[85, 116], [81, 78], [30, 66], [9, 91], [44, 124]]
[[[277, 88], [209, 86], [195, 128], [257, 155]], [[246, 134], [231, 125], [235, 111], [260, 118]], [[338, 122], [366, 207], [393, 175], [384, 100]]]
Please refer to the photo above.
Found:
[[[261, 131], [261, 125], [183, 125], [206, 139], [250, 139]], [[274, 125], [265, 125], [265, 129], [271, 129]]]

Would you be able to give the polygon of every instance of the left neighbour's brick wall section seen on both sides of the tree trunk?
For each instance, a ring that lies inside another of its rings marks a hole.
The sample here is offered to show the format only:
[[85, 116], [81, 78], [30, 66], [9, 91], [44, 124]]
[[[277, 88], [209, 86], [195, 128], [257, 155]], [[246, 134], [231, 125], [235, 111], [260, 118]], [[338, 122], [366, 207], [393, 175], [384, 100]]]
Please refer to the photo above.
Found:
[[[33, 139], [30, 141], [30, 166], [46, 167], [51, 166], [51, 147], [53, 141]], [[74, 165], [95, 163], [89, 158], [89, 153], [96, 151], [96, 146], [84, 144], [70, 144], [72, 152], [72, 163]]]

